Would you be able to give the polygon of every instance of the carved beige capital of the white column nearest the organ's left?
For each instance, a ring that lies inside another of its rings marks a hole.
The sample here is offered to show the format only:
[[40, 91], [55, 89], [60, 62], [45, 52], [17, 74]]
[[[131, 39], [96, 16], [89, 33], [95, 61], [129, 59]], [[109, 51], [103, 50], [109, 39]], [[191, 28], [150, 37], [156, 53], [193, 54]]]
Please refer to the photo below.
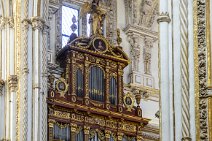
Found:
[[45, 21], [41, 17], [37, 17], [37, 16], [31, 18], [31, 23], [32, 23], [32, 28], [34, 30], [36, 29], [43, 30], [45, 25]]

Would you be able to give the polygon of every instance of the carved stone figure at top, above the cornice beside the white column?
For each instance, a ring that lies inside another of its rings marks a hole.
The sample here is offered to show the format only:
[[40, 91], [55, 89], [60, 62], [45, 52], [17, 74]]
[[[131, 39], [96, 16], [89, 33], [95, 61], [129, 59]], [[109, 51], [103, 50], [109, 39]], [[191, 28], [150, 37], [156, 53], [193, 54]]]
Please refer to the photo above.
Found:
[[139, 25], [147, 24], [148, 19], [151, 19], [152, 13], [152, 0], [143, 0], [141, 3], [141, 12], [140, 12]]

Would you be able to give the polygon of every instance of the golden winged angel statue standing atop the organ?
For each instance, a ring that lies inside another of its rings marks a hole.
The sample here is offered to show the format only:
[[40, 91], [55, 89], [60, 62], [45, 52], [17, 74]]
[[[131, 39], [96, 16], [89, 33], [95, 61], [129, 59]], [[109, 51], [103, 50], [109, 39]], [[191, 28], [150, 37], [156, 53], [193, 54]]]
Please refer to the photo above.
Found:
[[99, 7], [99, 0], [93, 0], [90, 4], [85, 2], [80, 9], [80, 18], [90, 14], [89, 24], [91, 25], [91, 34], [102, 34], [105, 12]]

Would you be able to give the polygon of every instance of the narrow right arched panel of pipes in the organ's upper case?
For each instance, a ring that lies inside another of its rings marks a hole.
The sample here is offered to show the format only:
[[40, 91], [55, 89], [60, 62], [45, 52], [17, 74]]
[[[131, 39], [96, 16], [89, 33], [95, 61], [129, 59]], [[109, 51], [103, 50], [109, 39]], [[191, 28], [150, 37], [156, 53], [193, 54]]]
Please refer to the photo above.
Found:
[[117, 104], [117, 82], [114, 77], [110, 78], [110, 103]]

